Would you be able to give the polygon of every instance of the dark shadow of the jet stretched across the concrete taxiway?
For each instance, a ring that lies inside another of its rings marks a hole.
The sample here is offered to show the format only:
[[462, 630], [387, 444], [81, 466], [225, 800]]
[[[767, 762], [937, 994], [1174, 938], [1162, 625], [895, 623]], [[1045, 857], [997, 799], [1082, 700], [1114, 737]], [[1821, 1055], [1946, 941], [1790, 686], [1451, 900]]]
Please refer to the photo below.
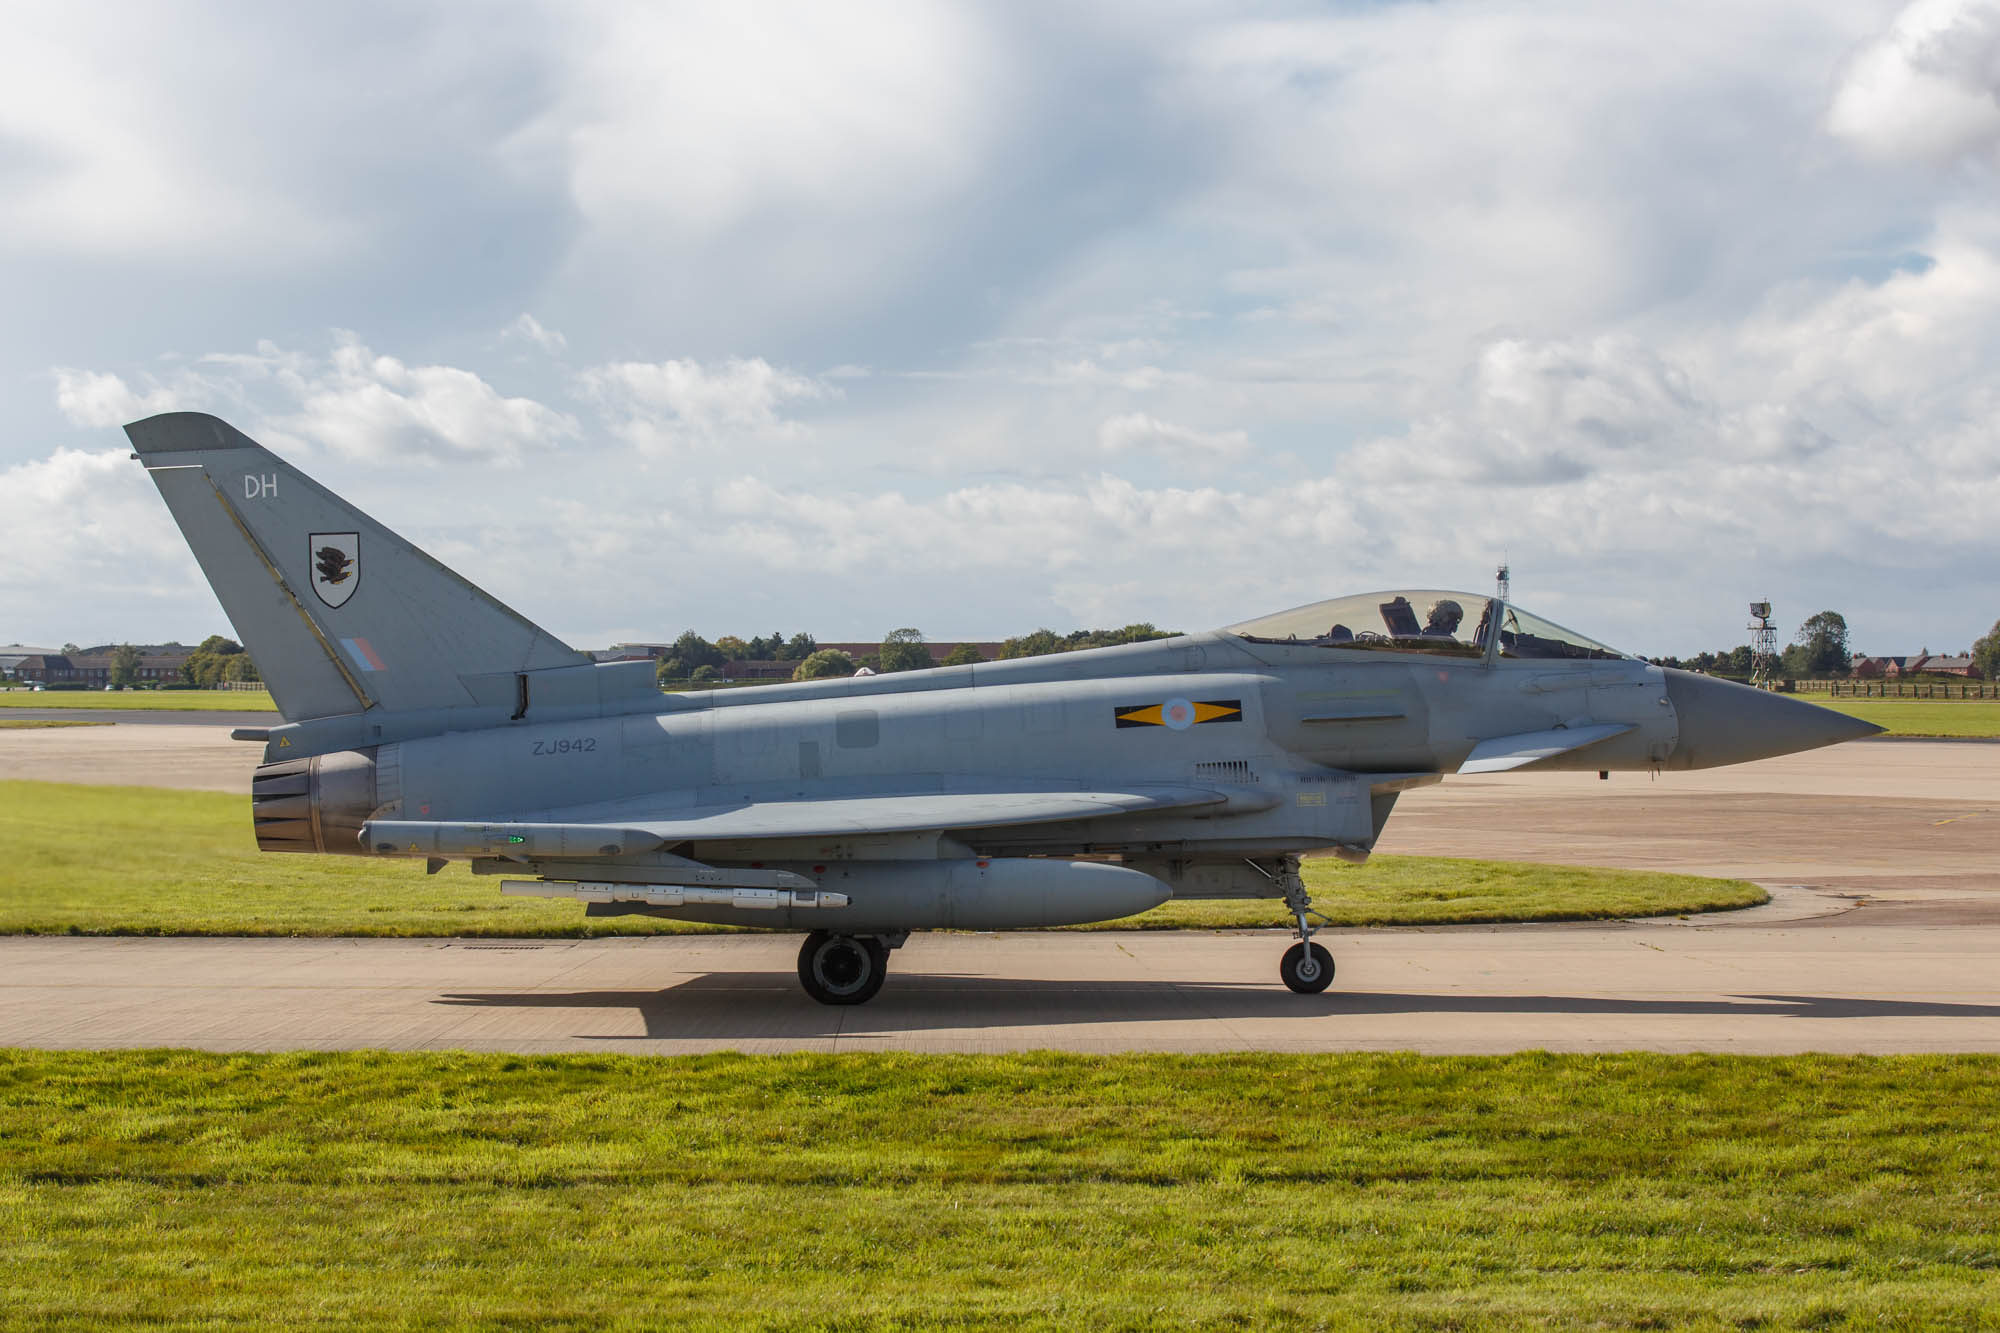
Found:
[[1370, 1019], [1392, 1015], [1562, 1015], [1606, 1019], [2000, 1019], [2000, 1005], [1864, 999], [1850, 995], [1736, 995], [1728, 999], [1616, 999], [1608, 995], [1422, 995], [1328, 991], [1292, 995], [1266, 985], [1172, 981], [1010, 981], [896, 977], [868, 1005], [830, 1009], [790, 975], [716, 973], [662, 991], [516, 991], [442, 995], [438, 1005], [484, 1009], [632, 1009], [640, 1035], [588, 1041], [732, 1037], [860, 1037], [988, 1027], [1092, 1023], [1202, 1023], [1234, 1019]]

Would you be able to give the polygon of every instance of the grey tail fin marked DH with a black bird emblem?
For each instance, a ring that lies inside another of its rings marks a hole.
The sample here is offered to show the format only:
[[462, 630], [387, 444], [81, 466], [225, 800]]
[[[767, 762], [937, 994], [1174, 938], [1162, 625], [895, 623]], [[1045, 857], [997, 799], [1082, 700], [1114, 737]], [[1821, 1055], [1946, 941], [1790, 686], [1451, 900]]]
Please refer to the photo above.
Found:
[[452, 709], [480, 677], [590, 662], [224, 420], [126, 436], [288, 723]]

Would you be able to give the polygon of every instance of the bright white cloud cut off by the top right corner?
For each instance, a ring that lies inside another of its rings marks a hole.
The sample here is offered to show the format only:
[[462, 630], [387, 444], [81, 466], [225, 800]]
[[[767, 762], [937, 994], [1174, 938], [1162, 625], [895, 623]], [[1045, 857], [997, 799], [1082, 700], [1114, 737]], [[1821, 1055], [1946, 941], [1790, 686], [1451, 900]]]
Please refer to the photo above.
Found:
[[1826, 126], [1886, 160], [1992, 158], [2000, 148], [2000, 4], [1916, 0], [1854, 54]]

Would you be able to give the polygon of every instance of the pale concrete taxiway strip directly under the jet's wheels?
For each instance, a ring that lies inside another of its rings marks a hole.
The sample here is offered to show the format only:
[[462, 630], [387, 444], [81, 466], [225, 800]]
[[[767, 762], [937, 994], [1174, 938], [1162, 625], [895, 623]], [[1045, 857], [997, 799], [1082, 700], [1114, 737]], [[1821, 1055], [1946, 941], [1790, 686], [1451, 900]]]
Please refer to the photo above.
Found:
[[[1780, 893], [1704, 923], [920, 935], [828, 1009], [796, 939], [0, 941], [26, 1047], [468, 1051], [2000, 1051], [2000, 921], [1870, 925]], [[1832, 915], [1802, 915], [1802, 913]]]

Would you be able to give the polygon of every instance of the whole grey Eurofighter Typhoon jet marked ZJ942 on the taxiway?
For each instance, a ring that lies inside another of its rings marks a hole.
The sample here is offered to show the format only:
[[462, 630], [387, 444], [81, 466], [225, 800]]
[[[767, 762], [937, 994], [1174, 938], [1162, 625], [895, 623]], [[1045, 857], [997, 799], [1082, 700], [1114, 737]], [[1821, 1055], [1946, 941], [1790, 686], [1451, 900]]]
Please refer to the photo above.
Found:
[[1874, 731], [1662, 671], [1468, 592], [1368, 592], [1204, 634], [972, 666], [662, 695], [594, 662], [214, 416], [126, 426], [282, 727], [264, 851], [470, 861], [588, 915], [806, 931], [828, 1005], [910, 931], [1284, 899], [1364, 861], [1448, 773], [1708, 769]]

